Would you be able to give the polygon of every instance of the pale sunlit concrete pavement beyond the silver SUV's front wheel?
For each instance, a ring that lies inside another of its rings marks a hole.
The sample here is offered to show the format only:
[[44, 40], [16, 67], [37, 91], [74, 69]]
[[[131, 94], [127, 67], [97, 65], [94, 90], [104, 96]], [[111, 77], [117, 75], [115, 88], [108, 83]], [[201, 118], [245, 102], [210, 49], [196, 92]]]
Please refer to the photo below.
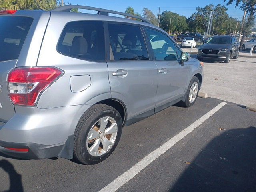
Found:
[[[196, 58], [195, 54], [191, 56]], [[238, 57], [228, 64], [204, 60], [204, 82], [200, 91], [244, 106], [256, 104], [256, 58]]]

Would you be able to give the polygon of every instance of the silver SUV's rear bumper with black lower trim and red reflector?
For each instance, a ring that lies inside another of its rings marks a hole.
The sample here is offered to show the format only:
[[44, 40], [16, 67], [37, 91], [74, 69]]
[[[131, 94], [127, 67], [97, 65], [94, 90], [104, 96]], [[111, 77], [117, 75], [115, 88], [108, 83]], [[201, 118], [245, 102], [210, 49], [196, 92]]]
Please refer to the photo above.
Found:
[[[74, 131], [89, 107], [16, 107], [16, 113], [7, 123], [0, 122], [0, 152], [21, 159], [72, 159]], [[28, 150], [20, 152], [7, 148]]]

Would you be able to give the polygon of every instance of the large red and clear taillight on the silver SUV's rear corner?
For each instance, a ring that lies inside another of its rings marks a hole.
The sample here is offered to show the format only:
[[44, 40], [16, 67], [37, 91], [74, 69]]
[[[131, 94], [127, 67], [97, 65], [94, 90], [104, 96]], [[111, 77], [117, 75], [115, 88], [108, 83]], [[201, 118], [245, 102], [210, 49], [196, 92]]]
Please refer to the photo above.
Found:
[[15, 105], [34, 106], [40, 93], [62, 73], [53, 67], [15, 68], [8, 75], [11, 101]]

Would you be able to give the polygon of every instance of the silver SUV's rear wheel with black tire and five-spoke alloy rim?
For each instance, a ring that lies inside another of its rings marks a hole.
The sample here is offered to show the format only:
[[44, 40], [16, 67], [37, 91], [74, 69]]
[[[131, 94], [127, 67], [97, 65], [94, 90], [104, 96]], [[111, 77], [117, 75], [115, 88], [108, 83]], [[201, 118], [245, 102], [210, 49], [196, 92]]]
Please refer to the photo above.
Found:
[[[107, 134], [110, 130], [113, 133]], [[115, 108], [105, 104], [90, 107], [75, 130], [74, 158], [86, 165], [102, 162], [115, 150], [121, 134], [122, 118]]]

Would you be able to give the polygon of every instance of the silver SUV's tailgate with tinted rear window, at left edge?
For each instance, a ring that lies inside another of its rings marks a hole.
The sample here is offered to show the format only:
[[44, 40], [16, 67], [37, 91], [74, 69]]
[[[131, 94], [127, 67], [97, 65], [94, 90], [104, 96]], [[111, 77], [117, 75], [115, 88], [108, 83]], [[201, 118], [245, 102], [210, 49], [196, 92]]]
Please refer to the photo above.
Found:
[[0, 16], [0, 121], [7, 122], [15, 113], [8, 96], [7, 75], [16, 66], [33, 18]]

